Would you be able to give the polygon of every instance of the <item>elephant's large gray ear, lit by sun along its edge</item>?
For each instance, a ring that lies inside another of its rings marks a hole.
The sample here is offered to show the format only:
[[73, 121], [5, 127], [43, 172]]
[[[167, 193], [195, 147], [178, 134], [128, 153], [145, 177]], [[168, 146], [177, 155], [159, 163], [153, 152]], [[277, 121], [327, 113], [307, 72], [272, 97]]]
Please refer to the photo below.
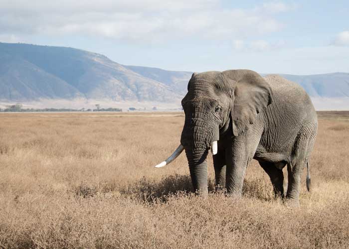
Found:
[[243, 70], [242, 73], [228, 75], [233, 76], [230, 80], [235, 85], [231, 119], [233, 134], [238, 136], [247, 130], [249, 125], [255, 122], [257, 115], [273, 102], [273, 93], [270, 85], [256, 72]]

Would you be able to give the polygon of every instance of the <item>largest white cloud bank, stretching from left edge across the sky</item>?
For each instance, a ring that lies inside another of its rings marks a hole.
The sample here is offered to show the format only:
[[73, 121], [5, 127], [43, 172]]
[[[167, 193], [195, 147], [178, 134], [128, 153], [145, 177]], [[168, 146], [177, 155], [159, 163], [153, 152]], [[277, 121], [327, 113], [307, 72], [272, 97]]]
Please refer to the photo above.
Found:
[[185, 37], [233, 40], [282, 29], [282, 2], [250, 9], [220, 0], [0, 0], [0, 34], [90, 35], [159, 42]]

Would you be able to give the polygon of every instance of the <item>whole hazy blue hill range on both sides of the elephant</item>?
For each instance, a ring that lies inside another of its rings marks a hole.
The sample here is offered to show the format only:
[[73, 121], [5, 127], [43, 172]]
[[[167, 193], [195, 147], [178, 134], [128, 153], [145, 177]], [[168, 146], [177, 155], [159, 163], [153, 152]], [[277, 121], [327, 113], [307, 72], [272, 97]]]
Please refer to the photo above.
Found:
[[[75, 48], [0, 43], [3, 103], [78, 98], [179, 106], [191, 74], [121, 65]], [[349, 73], [282, 76], [299, 83], [313, 99], [349, 100]]]

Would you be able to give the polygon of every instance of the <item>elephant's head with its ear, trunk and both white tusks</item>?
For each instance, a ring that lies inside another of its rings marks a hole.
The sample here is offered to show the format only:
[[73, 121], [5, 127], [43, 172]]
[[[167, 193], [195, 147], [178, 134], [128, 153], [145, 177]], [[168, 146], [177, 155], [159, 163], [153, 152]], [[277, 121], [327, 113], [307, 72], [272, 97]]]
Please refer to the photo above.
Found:
[[[180, 145], [156, 167], [170, 163], [185, 149], [194, 190], [207, 194], [208, 149], [217, 152], [220, 134], [238, 136], [272, 103], [269, 84], [250, 70], [193, 73], [182, 99], [185, 122]], [[228, 133], [227, 133], [228, 132]]]

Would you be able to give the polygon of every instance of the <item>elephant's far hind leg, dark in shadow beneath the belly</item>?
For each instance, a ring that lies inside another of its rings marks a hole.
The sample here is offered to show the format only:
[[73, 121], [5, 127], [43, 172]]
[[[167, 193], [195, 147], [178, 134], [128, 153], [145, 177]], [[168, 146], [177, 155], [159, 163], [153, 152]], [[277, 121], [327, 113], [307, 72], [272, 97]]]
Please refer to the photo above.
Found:
[[286, 162], [282, 161], [275, 163], [259, 161], [259, 164], [270, 177], [271, 183], [273, 184], [275, 197], [284, 199], [284, 174], [282, 169], [285, 167]]

